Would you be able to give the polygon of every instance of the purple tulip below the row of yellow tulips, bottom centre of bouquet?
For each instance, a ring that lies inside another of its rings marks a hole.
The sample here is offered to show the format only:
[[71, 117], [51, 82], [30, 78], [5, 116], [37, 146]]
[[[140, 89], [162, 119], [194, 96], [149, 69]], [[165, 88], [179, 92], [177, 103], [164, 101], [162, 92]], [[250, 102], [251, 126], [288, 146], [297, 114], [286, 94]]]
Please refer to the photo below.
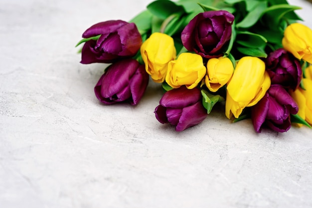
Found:
[[183, 131], [206, 118], [207, 110], [201, 101], [200, 90], [182, 86], [166, 92], [154, 112], [160, 123], [170, 123], [176, 131]]

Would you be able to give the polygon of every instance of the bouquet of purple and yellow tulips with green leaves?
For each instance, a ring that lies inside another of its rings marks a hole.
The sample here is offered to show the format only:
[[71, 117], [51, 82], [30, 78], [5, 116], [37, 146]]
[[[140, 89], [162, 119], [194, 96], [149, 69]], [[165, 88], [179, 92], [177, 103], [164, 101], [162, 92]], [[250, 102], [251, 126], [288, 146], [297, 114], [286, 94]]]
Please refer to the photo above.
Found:
[[[215, 104], [232, 121], [278, 132], [312, 124], [312, 30], [287, 0], [156, 0], [129, 22], [82, 35], [81, 63], [111, 63], [94, 88], [104, 104], [138, 104], [149, 80], [155, 115], [182, 131]], [[150, 79], [151, 78], [151, 79]]]

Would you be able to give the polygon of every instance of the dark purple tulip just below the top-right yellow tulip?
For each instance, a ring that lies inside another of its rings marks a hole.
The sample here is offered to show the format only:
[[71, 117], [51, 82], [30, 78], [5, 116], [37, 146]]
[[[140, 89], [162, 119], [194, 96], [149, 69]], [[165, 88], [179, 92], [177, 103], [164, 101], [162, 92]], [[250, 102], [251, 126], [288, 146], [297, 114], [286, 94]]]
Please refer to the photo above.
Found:
[[272, 84], [293, 90], [299, 86], [303, 73], [300, 63], [285, 49], [280, 48], [270, 53], [266, 59], [266, 67]]

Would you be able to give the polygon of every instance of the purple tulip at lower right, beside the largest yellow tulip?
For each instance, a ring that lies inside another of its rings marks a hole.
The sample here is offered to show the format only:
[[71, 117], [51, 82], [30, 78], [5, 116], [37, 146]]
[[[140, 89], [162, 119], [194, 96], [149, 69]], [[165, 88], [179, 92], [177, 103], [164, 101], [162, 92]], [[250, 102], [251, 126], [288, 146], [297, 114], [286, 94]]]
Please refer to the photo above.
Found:
[[285, 132], [291, 127], [290, 114], [296, 114], [298, 109], [298, 105], [283, 86], [271, 85], [265, 96], [252, 107], [251, 119], [258, 133], [263, 125]]

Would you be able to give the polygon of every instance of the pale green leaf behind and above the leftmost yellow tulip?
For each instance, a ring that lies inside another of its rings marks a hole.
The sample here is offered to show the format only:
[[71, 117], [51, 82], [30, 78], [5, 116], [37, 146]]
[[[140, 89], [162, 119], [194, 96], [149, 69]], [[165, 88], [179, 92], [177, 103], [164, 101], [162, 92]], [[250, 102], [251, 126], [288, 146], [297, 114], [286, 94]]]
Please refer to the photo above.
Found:
[[140, 34], [144, 34], [152, 28], [152, 13], [149, 10], [144, 10], [129, 22], [133, 22], [137, 25]]

